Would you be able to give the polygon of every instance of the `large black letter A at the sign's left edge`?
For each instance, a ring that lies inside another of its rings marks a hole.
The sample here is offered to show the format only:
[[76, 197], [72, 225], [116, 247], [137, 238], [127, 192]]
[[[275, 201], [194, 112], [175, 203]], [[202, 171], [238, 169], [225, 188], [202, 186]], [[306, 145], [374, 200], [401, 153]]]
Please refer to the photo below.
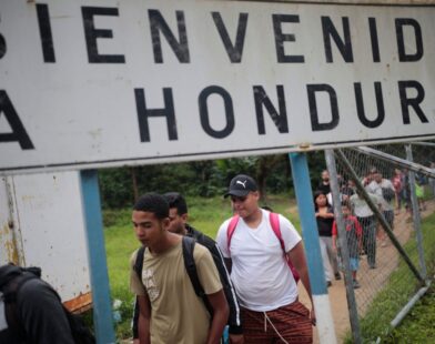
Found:
[[0, 133], [0, 142], [13, 142], [18, 141], [20, 143], [21, 149], [23, 150], [33, 150], [33, 143], [30, 141], [30, 138], [22, 125], [20, 118], [16, 109], [6, 93], [6, 91], [0, 90], [0, 119], [1, 114], [4, 113], [9, 125], [12, 129], [11, 133]]

